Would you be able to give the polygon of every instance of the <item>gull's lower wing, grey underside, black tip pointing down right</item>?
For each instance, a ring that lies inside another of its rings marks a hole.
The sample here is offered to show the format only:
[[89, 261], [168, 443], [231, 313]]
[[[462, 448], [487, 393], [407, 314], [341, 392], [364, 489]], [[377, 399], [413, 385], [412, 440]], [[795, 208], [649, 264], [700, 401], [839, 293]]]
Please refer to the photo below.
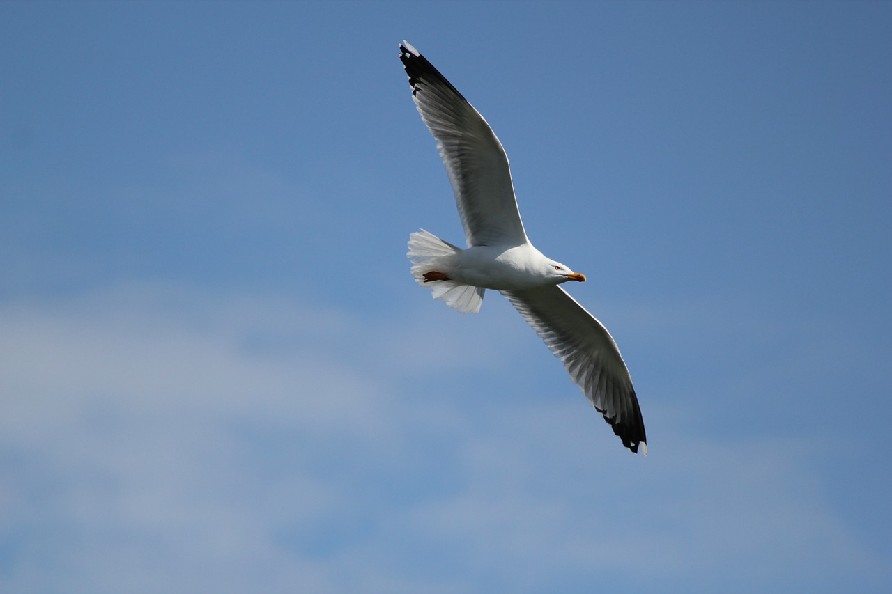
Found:
[[545, 341], [591, 405], [604, 415], [623, 445], [648, 453], [647, 436], [632, 377], [613, 337], [597, 318], [558, 285], [502, 291]]

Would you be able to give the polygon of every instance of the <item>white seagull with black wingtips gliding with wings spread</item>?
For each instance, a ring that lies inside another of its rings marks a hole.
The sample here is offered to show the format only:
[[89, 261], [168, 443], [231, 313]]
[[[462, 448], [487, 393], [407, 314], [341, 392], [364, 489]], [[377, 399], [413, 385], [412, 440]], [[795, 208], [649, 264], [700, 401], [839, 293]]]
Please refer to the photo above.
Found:
[[409, 235], [412, 276], [434, 299], [462, 313], [480, 311], [486, 289], [503, 294], [563, 361], [623, 445], [647, 455], [629, 369], [607, 328], [560, 286], [585, 276], [546, 257], [526, 236], [499, 138], [407, 41], [400, 60], [421, 119], [437, 141], [467, 242], [462, 249], [424, 229]]

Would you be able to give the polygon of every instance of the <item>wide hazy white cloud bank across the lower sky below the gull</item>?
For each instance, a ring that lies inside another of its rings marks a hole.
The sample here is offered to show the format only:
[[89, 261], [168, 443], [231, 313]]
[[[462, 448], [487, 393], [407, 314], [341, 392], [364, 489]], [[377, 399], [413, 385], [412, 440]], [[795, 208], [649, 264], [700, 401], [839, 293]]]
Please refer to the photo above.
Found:
[[454, 393], [451, 377], [498, 382], [533, 344], [493, 354], [527, 329], [492, 310], [384, 326], [171, 285], [0, 305], [0, 577], [751, 591], [881, 573], [822, 499], [814, 444], [707, 441], [650, 406], [658, 439], [633, 457], [566, 378], [550, 396], [524, 394], [525, 375], [505, 380], [516, 394]]

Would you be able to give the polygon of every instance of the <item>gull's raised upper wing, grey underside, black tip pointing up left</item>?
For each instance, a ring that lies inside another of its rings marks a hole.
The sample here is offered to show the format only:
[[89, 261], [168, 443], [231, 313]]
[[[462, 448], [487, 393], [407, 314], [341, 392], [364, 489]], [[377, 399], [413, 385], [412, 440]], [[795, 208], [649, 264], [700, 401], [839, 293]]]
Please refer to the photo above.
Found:
[[412, 98], [437, 139], [468, 247], [527, 243], [508, 157], [490, 125], [412, 45], [404, 41], [400, 51]]

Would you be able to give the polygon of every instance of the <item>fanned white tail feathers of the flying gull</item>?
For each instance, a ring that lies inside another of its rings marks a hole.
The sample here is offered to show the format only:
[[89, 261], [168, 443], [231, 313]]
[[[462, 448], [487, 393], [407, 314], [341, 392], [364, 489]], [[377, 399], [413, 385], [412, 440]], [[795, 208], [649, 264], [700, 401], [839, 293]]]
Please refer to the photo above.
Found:
[[437, 268], [442, 268], [450, 256], [460, 252], [461, 248], [422, 229], [409, 235], [409, 253], [406, 255], [412, 260], [412, 276], [415, 276], [415, 281], [418, 285], [431, 289], [434, 299], [439, 299], [461, 313], [477, 313], [483, 304], [483, 293], [486, 291], [483, 287], [459, 285], [450, 280], [425, 280], [425, 274], [442, 272]]

